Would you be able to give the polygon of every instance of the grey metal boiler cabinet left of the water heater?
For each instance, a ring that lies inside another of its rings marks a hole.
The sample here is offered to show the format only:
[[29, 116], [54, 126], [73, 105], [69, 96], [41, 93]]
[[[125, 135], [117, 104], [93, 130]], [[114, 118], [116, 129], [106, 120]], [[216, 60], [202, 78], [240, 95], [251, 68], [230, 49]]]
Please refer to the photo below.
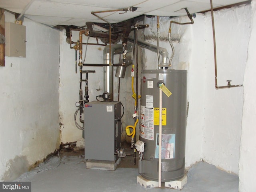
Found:
[[84, 106], [84, 155], [88, 160], [116, 161], [121, 147], [121, 103], [88, 102]]

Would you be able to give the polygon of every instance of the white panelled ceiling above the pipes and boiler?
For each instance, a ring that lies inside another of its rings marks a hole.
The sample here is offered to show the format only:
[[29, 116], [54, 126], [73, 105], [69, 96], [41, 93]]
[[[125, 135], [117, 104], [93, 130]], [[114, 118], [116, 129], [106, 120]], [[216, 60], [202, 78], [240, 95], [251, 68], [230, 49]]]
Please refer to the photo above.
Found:
[[[244, 0], [213, 0], [213, 7], [222, 7]], [[106, 12], [97, 14], [110, 23], [134, 18], [143, 14], [158, 16], [182, 16], [188, 8], [192, 13], [210, 9], [210, 0], [0, 0], [0, 7], [20, 16], [48, 26], [84, 26], [86, 22], [103, 22], [91, 12], [116, 10], [130, 6], [134, 12]], [[124, 14], [122, 14], [124, 13]]]

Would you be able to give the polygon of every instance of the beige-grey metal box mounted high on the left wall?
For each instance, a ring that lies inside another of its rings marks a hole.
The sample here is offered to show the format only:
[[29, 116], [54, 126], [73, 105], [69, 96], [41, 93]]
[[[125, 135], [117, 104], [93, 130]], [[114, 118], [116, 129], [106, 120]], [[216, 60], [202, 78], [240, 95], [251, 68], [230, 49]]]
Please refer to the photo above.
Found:
[[26, 57], [26, 26], [5, 23], [5, 55]]

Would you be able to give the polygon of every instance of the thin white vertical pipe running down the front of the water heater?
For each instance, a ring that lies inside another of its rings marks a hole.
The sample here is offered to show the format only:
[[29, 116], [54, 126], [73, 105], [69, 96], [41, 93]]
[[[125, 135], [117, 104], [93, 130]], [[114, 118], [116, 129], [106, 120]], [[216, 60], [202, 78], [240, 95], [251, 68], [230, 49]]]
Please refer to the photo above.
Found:
[[158, 187], [162, 180], [162, 89], [159, 88], [159, 155], [158, 155]]

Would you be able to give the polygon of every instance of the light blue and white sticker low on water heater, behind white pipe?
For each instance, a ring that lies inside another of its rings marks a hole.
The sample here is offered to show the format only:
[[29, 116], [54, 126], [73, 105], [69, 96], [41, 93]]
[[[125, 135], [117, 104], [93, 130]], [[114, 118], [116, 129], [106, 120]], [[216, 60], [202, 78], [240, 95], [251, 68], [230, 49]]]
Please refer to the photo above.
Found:
[[[159, 158], [159, 133], [156, 134], [156, 154]], [[175, 155], [175, 134], [162, 134], [162, 159], [174, 159]]]

